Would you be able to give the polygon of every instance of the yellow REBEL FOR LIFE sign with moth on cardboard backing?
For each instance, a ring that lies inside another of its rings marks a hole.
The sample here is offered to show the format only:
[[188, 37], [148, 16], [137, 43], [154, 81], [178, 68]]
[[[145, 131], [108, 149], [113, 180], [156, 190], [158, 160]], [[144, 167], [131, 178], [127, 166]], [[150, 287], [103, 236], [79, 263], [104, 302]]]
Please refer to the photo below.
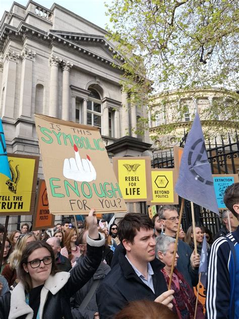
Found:
[[152, 199], [150, 157], [113, 157], [113, 170], [126, 202]]

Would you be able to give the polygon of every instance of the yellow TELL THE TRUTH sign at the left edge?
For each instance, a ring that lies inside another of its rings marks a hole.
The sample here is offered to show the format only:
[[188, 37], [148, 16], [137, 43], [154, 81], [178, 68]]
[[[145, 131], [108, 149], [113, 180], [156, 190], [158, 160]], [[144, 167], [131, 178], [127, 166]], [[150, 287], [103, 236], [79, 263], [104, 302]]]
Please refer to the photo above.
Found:
[[39, 156], [8, 154], [12, 180], [1, 174], [0, 215], [33, 215]]

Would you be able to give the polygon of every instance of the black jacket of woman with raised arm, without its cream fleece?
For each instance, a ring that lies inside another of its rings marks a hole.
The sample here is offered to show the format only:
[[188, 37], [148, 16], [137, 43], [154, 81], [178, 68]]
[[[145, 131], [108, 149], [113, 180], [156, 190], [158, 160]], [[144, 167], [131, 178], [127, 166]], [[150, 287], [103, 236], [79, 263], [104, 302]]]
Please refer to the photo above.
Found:
[[[90, 241], [92, 244], [92, 239], [90, 239]], [[87, 242], [89, 242], [88, 239], [87, 239]], [[93, 241], [93, 242], [96, 242], [96, 241]], [[86, 256], [84, 258], [81, 258], [79, 262], [76, 264], [76, 266], [72, 269], [69, 275], [70, 278], [68, 279], [67, 283], [63, 286], [63, 288], [61, 288], [56, 293], [52, 293], [50, 291], [51, 288], [48, 289], [49, 291], [47, 294], [46, 301], [44, 303], [42, 318], [44, 319], [62, 319], [62, 318], [72, 319], [73, 318], [71, 313], [71, 307], [70, 307], [70, 297], [76, 291], [78, 291], [81, 287], [83, 287], [97, 270], [101, 262], [103, 244], [104, 244], [104, 240], [102, 239], [102, 237], [101, 237], [101, 240], [96, 243], [97, 246], [90, 246], [89, 244], [87, 244]], [[64, 274], [69, 274], [69, 273], [60, 272], [60, 273], [56, 273], [54, 276], [57, 275], [56, 277], [58, 278], [58, 282], [61, 282], [60, 277], [61, 276], [64, 277]], [[54, 278], [54, 276], [52, 277]], [[18, 284], [15, 288], [16, 289], [15, 295], [17, 294], [17, 288], [21, 287], [21, 285], [20, 286], [19, 285], [20, 284]], [[13, 293], [14, 293], [14, 290], [13, 290]], [[54, 290], [54, 287], [52, 287], [51, 290]], [[10, 294], [5, 294], [2, 298], [0, 298], [0, 318], [1, 319], [8, 318], [8, 314], [10, 310], [9, 309], [10, 298], [11, 298]], [[18, 298], [18, 296], [16, 296], [16, 298]], [[13, 308], [15, 308], [15, 300], [11, 300], [11, 303], [14, 304]], [[21, 307], [21, 304], [19, 305], [19, 308], [20, 307]], [[29, 306], [25, 305], [25, 303], [23, 302], [23, 308], [26, 309], [27, 307], [29, 308]], [[18, 311], [18, 309], [15, 311]], [[17, 318], [25, 319], [26, 314], [17, 316]]]

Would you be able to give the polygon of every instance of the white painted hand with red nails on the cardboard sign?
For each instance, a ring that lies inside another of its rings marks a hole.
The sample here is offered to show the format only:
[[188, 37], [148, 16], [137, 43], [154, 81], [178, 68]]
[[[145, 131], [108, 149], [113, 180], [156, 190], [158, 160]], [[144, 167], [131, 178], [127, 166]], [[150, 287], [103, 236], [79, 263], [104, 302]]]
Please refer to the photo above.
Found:
[[96, 180], [96, 171], [91, 163], [90, 156], [81, 159], [76, 144], [74, 144], [75, 158], [65, 158], [63, 175], [78, 182], [91, 182]]

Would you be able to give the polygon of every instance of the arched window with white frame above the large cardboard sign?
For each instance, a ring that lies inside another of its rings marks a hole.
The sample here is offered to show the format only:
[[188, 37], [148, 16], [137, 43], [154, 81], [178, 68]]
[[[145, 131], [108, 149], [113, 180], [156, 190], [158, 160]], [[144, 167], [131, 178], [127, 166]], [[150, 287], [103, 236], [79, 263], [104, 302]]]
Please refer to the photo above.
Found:
[[88, 89], [91, 93], [87, 100], [87, 125], [96, 126], [101, 131], [102, 104], [98, 92]]

